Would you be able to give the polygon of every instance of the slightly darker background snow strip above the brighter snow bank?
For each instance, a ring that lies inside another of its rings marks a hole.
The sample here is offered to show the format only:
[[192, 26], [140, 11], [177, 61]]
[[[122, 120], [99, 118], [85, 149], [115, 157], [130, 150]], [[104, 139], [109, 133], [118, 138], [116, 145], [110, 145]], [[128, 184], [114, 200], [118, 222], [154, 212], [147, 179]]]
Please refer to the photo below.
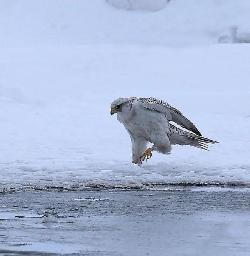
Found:
[[165, 6], [153, 12], [110, 5], [118, 2], [121, 6], [128, 0], [0, 0], [0, 47], [197, 45], [217, 43], [232, 25], [238, 33], [250, 31], [248, 0], [171, 0], [167, 5], [162, 0], [130, 0], [139, 9]]

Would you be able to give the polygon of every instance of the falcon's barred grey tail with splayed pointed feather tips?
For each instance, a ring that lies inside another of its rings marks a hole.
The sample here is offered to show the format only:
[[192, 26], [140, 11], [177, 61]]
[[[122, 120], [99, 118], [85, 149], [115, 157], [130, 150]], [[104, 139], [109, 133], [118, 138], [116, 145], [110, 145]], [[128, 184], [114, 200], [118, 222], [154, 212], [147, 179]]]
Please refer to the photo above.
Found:
[[196, 148], [209, 150], [211, 147], [209, 144], [218, 143], [218, 141], [213, 141], [208, 138], [183, 131], [172, 124], [170, 124], [170, 126], [171, 128], [168, 137], [171, 144], [190, 145]]

